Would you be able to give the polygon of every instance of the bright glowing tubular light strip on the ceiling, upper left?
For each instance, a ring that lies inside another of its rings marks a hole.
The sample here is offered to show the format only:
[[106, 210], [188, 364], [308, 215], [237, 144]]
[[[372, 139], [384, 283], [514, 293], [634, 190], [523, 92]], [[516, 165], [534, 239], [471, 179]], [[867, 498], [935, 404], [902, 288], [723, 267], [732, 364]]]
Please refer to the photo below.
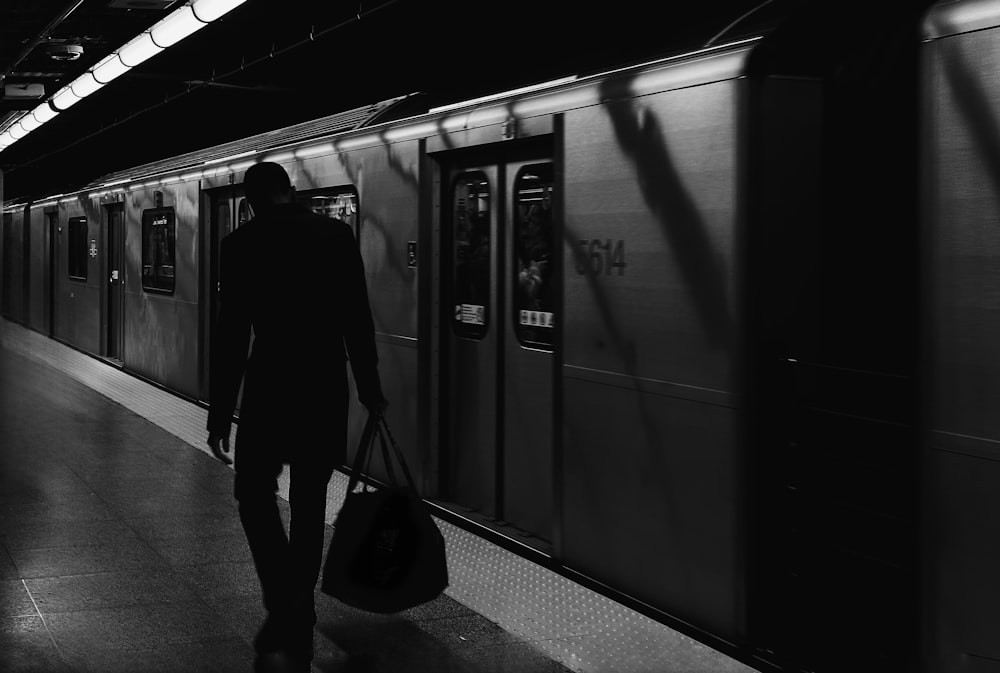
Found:
[[105, 84], [242, 5], [246, 0], [192, 0], [126, 42], [31, 113], [0, 128], [0, 152]]

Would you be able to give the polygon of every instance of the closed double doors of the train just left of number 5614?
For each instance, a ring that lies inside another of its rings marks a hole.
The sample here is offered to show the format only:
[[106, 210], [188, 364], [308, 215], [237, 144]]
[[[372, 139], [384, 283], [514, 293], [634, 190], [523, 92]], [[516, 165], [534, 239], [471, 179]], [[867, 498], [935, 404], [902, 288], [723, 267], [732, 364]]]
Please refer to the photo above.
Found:
[[463, 165], [443, 207], [442, 495], [552, 539], [551, 160]]

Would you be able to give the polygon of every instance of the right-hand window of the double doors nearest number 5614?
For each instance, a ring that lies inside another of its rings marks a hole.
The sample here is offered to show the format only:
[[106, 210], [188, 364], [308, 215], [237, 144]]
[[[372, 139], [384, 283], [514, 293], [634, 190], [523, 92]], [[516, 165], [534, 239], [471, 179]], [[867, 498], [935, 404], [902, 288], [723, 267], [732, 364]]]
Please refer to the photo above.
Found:
[[524, 166], [514, 180], [514, 331], [525, 346], [551, 349], [552, 164]]

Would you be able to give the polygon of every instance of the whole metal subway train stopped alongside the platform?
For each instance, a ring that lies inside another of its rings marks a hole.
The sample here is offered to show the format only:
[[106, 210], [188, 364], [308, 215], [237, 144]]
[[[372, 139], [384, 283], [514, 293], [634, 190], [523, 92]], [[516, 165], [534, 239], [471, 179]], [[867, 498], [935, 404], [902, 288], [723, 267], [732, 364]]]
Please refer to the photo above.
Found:
[[878, 4], [6, 203], [3, 315], [206, 400], [278, 162], [442, 517], [760, 670], [1000, 672], [1000, 1]]

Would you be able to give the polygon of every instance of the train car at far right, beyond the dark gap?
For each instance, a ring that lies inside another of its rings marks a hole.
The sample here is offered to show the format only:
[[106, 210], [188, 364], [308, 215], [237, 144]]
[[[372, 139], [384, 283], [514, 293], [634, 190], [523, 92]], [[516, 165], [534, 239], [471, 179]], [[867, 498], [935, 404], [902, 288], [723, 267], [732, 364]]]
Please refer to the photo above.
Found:
[[941, 4], [922, 78], [928, 670], [1000, 671], [1000, 3]]

